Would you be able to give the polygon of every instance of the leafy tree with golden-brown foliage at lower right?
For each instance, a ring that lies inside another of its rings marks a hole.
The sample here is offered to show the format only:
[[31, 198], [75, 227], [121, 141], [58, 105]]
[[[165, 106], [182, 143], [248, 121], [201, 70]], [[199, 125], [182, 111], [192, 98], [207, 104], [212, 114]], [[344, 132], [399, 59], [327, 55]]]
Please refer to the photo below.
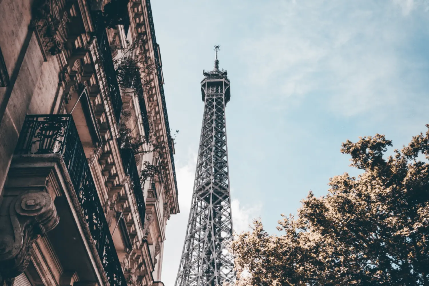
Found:
[[363, 174], [310, 192], [296, 217], [282, 215], [281, 235], [255, 220], [231, 247], [237, 285], [429, 285], [429, 130], [384, 157], [389, 146], [379, 134], [343, 143]]

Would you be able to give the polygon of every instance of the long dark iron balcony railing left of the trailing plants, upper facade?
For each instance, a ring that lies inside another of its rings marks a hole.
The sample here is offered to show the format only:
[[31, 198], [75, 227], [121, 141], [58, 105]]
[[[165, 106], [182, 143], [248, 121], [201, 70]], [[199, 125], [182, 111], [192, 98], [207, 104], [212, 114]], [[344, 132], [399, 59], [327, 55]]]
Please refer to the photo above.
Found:
[[103, 19], [103, 12], [93, 11], [92, 18], [95, 27], [95, 37], [97, 38], [98, 48], [100, 50], [101, 62], [106, 75], [107, 87], [109, 88], [110, 99], [112, 100], [113, 112], [116, 122], [119, 123], [122, 111], [122, 98], [119, 89], [118, 79], [116, 78], [115, 65], [113, 64], [112, 51], [110, 51], [109, 38], [106, 33], [106, 24]]

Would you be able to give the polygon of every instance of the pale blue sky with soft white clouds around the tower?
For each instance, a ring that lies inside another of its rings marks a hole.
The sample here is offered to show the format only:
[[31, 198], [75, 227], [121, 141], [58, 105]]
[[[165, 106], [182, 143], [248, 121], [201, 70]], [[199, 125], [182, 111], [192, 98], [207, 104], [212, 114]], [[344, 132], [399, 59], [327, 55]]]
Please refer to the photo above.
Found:
[[[213, 45], [228, 71], [234, 230], [269, 233], [312, 190], [349, 172], [341, 142], [385, 134], [394, 148], [429, 123], [428, 0], [152, 0], [175, 145], [180, 213], [166, 227], [174, 286], [186, 232]], [[390, 149], [389, 152], [392, 152]]]

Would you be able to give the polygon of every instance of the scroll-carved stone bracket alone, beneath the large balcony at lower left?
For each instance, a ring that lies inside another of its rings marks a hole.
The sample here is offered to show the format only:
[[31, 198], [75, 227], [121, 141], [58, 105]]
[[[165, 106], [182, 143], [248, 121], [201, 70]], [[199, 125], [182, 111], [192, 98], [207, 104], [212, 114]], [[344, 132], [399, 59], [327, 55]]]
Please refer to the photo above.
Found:
[[33, 242], [58, 222], [47, 192], [5, 190], [0, 205], [0, 275], [10, 278], [21, 274], [29, 263]]

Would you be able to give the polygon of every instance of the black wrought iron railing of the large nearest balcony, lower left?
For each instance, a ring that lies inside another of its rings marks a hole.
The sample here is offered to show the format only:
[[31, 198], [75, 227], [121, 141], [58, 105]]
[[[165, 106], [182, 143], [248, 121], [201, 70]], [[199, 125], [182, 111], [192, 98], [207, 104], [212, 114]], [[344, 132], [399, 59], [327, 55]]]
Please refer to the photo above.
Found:
[[27, 115], [15, 154], [61, 154], [110, 286], [127, 286], [71, 115]]

